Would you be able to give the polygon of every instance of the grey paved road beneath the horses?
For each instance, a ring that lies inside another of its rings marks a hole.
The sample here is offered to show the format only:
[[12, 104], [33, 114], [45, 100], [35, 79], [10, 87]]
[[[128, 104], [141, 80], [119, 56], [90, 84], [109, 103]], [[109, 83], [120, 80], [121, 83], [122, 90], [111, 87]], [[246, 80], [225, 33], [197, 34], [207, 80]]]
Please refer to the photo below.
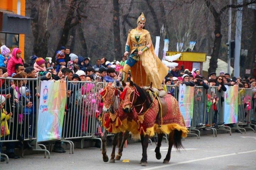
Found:
[[[44, 159], [43, 154], [25, 155], [24, 158], [13, 160], [9, 164], [0, 163], [2, 170], [255, 170], [256, 169], [256, 133], [218, 134], [218, 137], [201, 136], [186, 138], [183, 142], [184, 151], [173, 150], [169, 164], [162, 161], [167, 153], [167, 143], [162, 145], [162, 159], [155, 158], [153, 143], [148, 147], [148, 166], [142, 167], [141, 144], [132, 143], [124, 149], [121, 159], [129, 159], [130, 163], [116, 161], [115, 164], [104, 163], [98, 148], [75, 149], [75, 154], [51, 153], [50, 159]], [[111, 148], [108, 147], [110, 157]]]

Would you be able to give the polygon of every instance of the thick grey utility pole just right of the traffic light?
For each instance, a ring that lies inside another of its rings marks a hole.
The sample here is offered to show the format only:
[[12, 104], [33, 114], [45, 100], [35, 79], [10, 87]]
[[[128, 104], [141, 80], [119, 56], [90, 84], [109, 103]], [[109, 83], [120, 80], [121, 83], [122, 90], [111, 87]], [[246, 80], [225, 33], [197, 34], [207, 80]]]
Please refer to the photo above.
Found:
[[[237, 4], [243, 4], [243, 0], [237, 0]], [[240, 52], [241, 52], [241, 34], [242, 34], [242, 18], [243, 7], [236, 11], [236, 27], [235, 27], [235, 62], [234, 62], [234, 76], [240, 76]]]

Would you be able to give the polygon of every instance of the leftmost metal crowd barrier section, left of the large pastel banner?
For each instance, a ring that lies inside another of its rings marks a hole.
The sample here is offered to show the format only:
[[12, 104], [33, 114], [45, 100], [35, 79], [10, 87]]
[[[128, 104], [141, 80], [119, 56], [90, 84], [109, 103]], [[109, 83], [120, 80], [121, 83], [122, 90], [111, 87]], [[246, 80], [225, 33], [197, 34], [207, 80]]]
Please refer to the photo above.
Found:
[[[1, 123], [4, 122], [4, 125], [1, 130], [2, 137], [0, 138], [0, 142], [3, 145], [6, 145], [6, 148], [13, 151], [16, 145], [14, 142], [22, 142], [22, 157], [24, 155], [23, 146], [24, 144], [27, 144], [27, 146], [32, 146], [32, 151], [44, 152], [45, 158], [48, 153], [48, 158], [50, 158], [50, 152], [46, 147], [37, 143], [36, 126], [39, 100], [36, 94], [40, 92], [40, 89], [35, 87], [38, 87], [38, 79], [1, 77], [1, 83], [0, 95], [5, 96], [5, 106], [3, 109], [5, 109], [8, 114], [12, 112], [12, 116], [9, 120], [7, 120], [8, 118], [1, 118]], [[12, 84], [16, 85], [15, 89], [12, 88]], [[29, 95], [27, 97], [24, 89], [25, 87], [29, 90]], [[7, 97], [9, 95], [11, 95], [11, 97]], [[29, 108], [26, 102], [32, 102], [32, 107]], [[5, 113], [1, 111], [0, 114], [0, 117], [2, 117], [2, 114]], [[9, 135], [7, 135], [7, 131], [10, 132]], [[7, 158], [6, 162], [8, 163], [9, 158], [7, 155], [2, 153], [0, 154]]]

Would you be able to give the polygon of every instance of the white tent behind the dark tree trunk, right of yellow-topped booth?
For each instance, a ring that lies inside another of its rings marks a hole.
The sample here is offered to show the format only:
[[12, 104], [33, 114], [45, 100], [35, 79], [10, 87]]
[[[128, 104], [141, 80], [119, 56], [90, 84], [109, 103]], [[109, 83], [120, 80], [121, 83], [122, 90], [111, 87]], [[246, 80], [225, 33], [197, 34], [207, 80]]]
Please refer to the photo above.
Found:
[[[211, 56], [206, 56], [206, 62], [203, 63], [203, 72], [207, 72], [206, 76], [208, 75], [208, 68], [210, 63]], [[217, 75], [219, 75], [220, 71], [224, 71], [225, 73], [228, 73], [228, 63], [224, 62], [223, 60], [218, 59], [217, 62], [218, 68], [216, 69]], [[232, 73], [234, 70], [233, 67], [230, 67], [230, 72]]]

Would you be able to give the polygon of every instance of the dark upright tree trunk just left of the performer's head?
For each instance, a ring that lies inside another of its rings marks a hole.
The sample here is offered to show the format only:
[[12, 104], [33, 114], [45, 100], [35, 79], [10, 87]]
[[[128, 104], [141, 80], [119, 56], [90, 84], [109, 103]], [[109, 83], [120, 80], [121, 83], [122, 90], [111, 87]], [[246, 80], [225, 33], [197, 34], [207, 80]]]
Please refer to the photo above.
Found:
[[113, 0], [113, 32], [114, 32], [114, 60], [122, 60], [121, 40], [120, 40], [120, 13], [119, 2]]

